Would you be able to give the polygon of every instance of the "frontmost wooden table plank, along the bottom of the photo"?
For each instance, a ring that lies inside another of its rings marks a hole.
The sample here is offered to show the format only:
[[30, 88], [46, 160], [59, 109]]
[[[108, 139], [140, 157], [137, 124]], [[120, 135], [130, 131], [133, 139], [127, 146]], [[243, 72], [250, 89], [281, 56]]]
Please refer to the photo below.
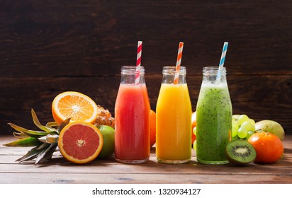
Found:
[[77, 174], [77, 173], [1, 173], [1, 184], [291, 184], [292, 175], [280, 174]]

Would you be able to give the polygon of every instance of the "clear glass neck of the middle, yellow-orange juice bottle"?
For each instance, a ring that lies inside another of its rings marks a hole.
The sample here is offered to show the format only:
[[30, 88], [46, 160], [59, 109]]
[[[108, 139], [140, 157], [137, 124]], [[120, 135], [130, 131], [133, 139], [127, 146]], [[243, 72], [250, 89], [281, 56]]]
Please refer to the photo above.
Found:
[[164, 66], [162, 70], [162, 83], [163, 84], [173, 84], [174, 76], [179, 73], [178, 84], [186, 83], [186, 67], [181, 66], [179, 71], [176, 71], [175, 66]]

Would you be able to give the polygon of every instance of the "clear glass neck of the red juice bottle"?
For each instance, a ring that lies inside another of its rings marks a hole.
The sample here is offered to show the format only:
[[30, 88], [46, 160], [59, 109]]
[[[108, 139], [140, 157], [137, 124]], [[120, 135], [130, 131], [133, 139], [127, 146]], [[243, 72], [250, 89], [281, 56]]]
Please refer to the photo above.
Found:
[[[135, 84], [137, 77], [136, 66], [122, 66], [120, 72], [120, 83], [121, 84]], [[139, 84], [145, 84], [145, 69], [144, 66], [141, 66]]]

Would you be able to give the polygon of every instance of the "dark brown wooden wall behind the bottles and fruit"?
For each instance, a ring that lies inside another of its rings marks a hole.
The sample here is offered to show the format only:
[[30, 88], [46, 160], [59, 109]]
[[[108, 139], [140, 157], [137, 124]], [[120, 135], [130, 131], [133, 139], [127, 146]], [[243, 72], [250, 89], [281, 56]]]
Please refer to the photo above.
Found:
[[193, 110], [203, 66], [223, 42], [234, 114], [275, 120], [292, 134], [292, 1], [0, 1], [0, 134], [6, 123], [52, 121], [58, 93], [79, 91], [114, 112], [120, 66], [135, 65], [137, 41], [155, 110], [162, 66], [181, 64]]

